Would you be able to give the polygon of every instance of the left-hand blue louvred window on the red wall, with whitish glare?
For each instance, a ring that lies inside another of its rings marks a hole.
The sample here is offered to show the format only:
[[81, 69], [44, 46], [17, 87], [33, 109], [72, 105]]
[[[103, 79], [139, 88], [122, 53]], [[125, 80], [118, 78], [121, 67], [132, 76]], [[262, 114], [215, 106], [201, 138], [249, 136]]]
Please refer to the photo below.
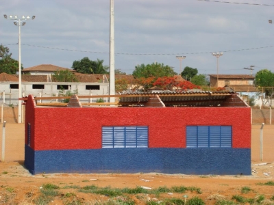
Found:
[[147, 126], [103, 126], [102, 148], [147, 148]]

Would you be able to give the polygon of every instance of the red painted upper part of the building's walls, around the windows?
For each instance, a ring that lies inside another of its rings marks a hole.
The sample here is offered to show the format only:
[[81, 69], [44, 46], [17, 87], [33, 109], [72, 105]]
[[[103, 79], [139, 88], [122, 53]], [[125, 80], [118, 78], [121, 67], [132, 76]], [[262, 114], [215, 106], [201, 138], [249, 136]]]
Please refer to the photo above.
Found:
[[129, 125], [149, 126], [149, 148], [185, 148], [188, 125], [232, 126], [232, 147], [251, 147], [249, 107], [33, 109], [31, 104], [26, 123], [34, 124], [34, 150], [100, 149], [102, 126]]

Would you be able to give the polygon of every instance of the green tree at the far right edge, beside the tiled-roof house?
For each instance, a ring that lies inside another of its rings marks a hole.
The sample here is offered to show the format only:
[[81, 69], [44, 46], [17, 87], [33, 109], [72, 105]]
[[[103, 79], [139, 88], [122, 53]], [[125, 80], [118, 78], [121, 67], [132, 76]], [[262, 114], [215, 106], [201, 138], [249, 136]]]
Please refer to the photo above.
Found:
[[256, 73], [254, 83], [258, 87], [265, 87], [266, 95], [271, 96], [274, 87], [274, 73], [267, 69], [259, 70]]

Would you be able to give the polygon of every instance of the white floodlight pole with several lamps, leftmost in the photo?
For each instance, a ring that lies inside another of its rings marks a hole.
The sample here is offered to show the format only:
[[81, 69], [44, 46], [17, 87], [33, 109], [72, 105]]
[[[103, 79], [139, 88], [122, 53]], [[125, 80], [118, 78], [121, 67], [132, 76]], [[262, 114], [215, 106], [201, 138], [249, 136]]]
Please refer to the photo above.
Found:
[[[19, 38], [18, 38], [18, 46], [19, 46], [19, 59], [18, 59], [18, 91], [19, 91], [19, 98], [22, 98], [22, 81], [21, 81], [21, 26], [25, 25], [26, 20], [34, 20], [35, 16], [22, 16], [18, 18], [18, 16], [7, 16], [4, 14], [5, 19], [10, 19], [14, 21], [14, 25], [18, 26], [19, 28]], [[22, 123], [22, 100], [18, 100], [18, 123]]]

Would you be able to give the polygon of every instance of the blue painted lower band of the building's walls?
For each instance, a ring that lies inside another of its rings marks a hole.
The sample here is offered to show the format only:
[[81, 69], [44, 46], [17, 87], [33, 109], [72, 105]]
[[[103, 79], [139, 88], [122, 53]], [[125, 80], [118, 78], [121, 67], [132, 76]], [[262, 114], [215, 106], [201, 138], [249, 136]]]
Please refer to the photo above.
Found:
[[251, 174], [245, 148], [102, 148], [34, 151], [25, 146], [25, 167], [41, 173]]

